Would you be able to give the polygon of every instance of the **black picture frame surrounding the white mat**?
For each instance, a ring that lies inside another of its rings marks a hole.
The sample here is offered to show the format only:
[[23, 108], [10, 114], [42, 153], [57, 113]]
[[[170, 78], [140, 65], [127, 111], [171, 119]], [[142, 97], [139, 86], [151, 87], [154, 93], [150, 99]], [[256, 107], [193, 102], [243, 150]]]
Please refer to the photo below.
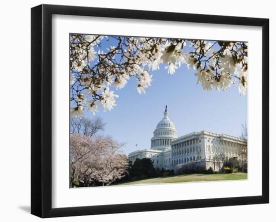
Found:
[[[52, 15], [176, 21], [262, 28], [262, 194], [230, 198], [52, 208]], [[269, 20], [122, 9], [40, 5], [31, 9], [31, 213], [76, 216], [269, 202]]]

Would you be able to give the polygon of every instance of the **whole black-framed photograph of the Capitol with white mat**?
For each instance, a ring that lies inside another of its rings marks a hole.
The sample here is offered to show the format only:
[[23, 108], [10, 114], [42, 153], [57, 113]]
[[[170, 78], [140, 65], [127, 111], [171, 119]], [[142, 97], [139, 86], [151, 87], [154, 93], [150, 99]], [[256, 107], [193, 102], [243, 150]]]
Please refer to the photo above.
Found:
[[31, 11], [31, 213], [269, 202], [268, 19]]

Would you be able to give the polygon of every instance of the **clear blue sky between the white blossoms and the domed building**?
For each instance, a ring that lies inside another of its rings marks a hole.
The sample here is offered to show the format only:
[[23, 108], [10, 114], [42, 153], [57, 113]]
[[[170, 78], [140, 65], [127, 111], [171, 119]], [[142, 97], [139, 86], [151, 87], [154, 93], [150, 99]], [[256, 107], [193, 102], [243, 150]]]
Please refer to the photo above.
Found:
[[[183, 64], [170, 75], [161, 65], [160, 70], [151, 72], [154, 81], [146, 94], [137, 92], [135, 78], [121, 90], [112, 88], [119, 95], [117, 106], [105, 113], [100, 109], [96, 114], [106, 123], [103, 133], [125, 142], [124, 154], [136, 150], [135, 144], [137, 149], [150, 148], [153, 131], [167, 104], [178, 136], [201, 130], [239, 136], [241, 124], [247, 120], [247, 95], [239, 95], [234, 86], [226, 92], [206, 92], [196, 85], [194, 73]], [[93, 118], [88, 112], [85, 116]]]

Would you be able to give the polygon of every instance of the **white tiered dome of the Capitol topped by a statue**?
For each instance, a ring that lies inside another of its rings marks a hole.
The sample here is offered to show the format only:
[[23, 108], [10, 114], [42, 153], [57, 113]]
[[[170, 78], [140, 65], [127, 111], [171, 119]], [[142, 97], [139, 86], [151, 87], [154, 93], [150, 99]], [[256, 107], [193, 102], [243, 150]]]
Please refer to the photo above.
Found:
[[151, 139], [151, 149], [167, 150], [171, 148], [172, 140], [177, 138], [175, 124], [169, 119], [167, 105], [163, 119], [157, 124]]

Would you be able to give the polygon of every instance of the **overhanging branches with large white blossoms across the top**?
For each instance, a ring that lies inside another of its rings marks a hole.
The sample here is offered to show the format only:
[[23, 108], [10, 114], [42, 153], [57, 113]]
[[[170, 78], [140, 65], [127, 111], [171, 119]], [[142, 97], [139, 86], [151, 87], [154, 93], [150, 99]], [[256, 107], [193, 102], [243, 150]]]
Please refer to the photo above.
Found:
[[247, 89], [247, 43], [124, 36], [70, 35], [71, 116], [83, 110], [95, 114], [111, 110], [130, 78], [137, 92], [146, 93], [154, 71], [170, 75], [185, 64], [206, 91], [226, 91], [231, 85], [244, 95]]

